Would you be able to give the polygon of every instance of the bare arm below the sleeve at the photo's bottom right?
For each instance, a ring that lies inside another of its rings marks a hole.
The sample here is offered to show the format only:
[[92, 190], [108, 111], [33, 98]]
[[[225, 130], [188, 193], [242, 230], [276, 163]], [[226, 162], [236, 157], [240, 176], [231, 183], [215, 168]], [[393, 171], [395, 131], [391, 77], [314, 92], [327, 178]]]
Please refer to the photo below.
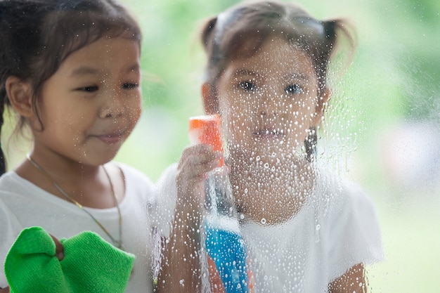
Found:
[[328, 285], [329, 293], [367, 292], [365, 284], [365, 268], [362, 263], [349, 268], [349, 270]]

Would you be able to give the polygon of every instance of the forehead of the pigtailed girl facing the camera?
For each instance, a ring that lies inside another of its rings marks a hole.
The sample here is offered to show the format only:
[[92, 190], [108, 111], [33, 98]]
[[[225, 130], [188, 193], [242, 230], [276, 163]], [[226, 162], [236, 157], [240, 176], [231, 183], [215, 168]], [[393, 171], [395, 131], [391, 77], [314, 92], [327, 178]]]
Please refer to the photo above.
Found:
[[267, 39], [252, 56], [234, 58], [226, 65], [224, 75], [232, 77], [240, 72], [254, 72], [262, 77], [287, 74], [316, 79], [313, 63], [306, 52], [280, 38]]

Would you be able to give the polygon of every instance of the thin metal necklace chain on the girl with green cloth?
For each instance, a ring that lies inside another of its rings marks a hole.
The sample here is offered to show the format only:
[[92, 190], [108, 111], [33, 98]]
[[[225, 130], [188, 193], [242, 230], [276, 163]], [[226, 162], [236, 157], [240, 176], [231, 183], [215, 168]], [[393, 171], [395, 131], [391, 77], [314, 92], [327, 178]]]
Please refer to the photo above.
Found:
[[77, 200], [75, 200], [74, 198], [70, 197], [69, 195], [67, 195], [67, 193], [63, 190], [63, 188], [60, 187], [60, 185], [58, 185], [58, 183], [56, 183], [56, 181], [52, 178], [51, 175], [49, 175], [47, 173], [46, 170], [43, 169], [43, 167], [41, 167], [39, 164], [37, 164], [37, 162], [34, 161], [34, 159], [32, 159], [32, 157], [30, 157], [29, 154], [26, 155], [27, 160], [29, 162], [31, 162], [32, 165], [34, 165], [35, 168], [38, 169], [38, 171], [41, 172], [41, 174], [43, 174], [48, 181], [51, 181], [52, 185], [70, 202], [74, 203], [77, 207], [79, 207], [79, 209], [82, 209], [83, 211], [86, 212], [86, 214], [88, 214], [91, 219], [93, 219], [93, 221], [95, 221], [95, 223], [104, 231], [105, 234], [108, 235], [108, 237], [110, 237], [110, 240], [112, 240], [113, 245], [115, 245], [115, 247], [122, 249], [122, 216], [121, 216], [121, 209], [119, 208], [119, 203], [117, 202], [117, 198], [115, 195], [115, 188], [113, 187], [113, 183], [112, 180], [110, 179], [110, 175], [107, 172], [107, 169], [105, 169], [105, 167], [103, 166], [105, 175], [108, 178], [108, 181], [110, 182], [110, 189], [112, 190], [112, 196], [113, 196], [113, 200], [115, 200], [115, 204], [116, 204], [116, 208], [117, 208], [117, 214], [119, 216], [119, 240], [115, 240], [114, 237], [112, 237], [112, 235], [110, 235], [110, 233], [108, 233], [108, 230], [105, 229], [105, 227], [103, 226], [103, 224], [101, 224], [87, 209], [84, 209], [84, 206], [82, 204], [80, 204], [79, 202], [77, 202]]

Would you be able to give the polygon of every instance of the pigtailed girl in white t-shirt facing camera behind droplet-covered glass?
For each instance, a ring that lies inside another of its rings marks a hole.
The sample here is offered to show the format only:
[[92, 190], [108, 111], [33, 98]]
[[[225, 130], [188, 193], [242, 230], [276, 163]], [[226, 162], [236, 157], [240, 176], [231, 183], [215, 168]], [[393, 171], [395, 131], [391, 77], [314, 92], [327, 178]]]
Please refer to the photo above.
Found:
[[368, 197], [316, 166], [343, 37], [342, 20], [276, 1], [233, 6], [202, 30], [203, 104], [221, 115], [255, 292], [364, 292], [364, 264], [382, 257]]

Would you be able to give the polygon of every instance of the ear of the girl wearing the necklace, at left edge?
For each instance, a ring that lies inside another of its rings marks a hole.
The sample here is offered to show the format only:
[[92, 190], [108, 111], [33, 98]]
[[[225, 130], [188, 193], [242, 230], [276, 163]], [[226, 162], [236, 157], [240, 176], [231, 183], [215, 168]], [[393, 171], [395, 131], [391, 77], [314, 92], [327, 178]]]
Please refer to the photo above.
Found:
[[29, 82], [18, 77], [6, 79], [6, 95], [15, 111], [23, 117], [31, 117], [34, 114], [32, 109], [32, 89]]

